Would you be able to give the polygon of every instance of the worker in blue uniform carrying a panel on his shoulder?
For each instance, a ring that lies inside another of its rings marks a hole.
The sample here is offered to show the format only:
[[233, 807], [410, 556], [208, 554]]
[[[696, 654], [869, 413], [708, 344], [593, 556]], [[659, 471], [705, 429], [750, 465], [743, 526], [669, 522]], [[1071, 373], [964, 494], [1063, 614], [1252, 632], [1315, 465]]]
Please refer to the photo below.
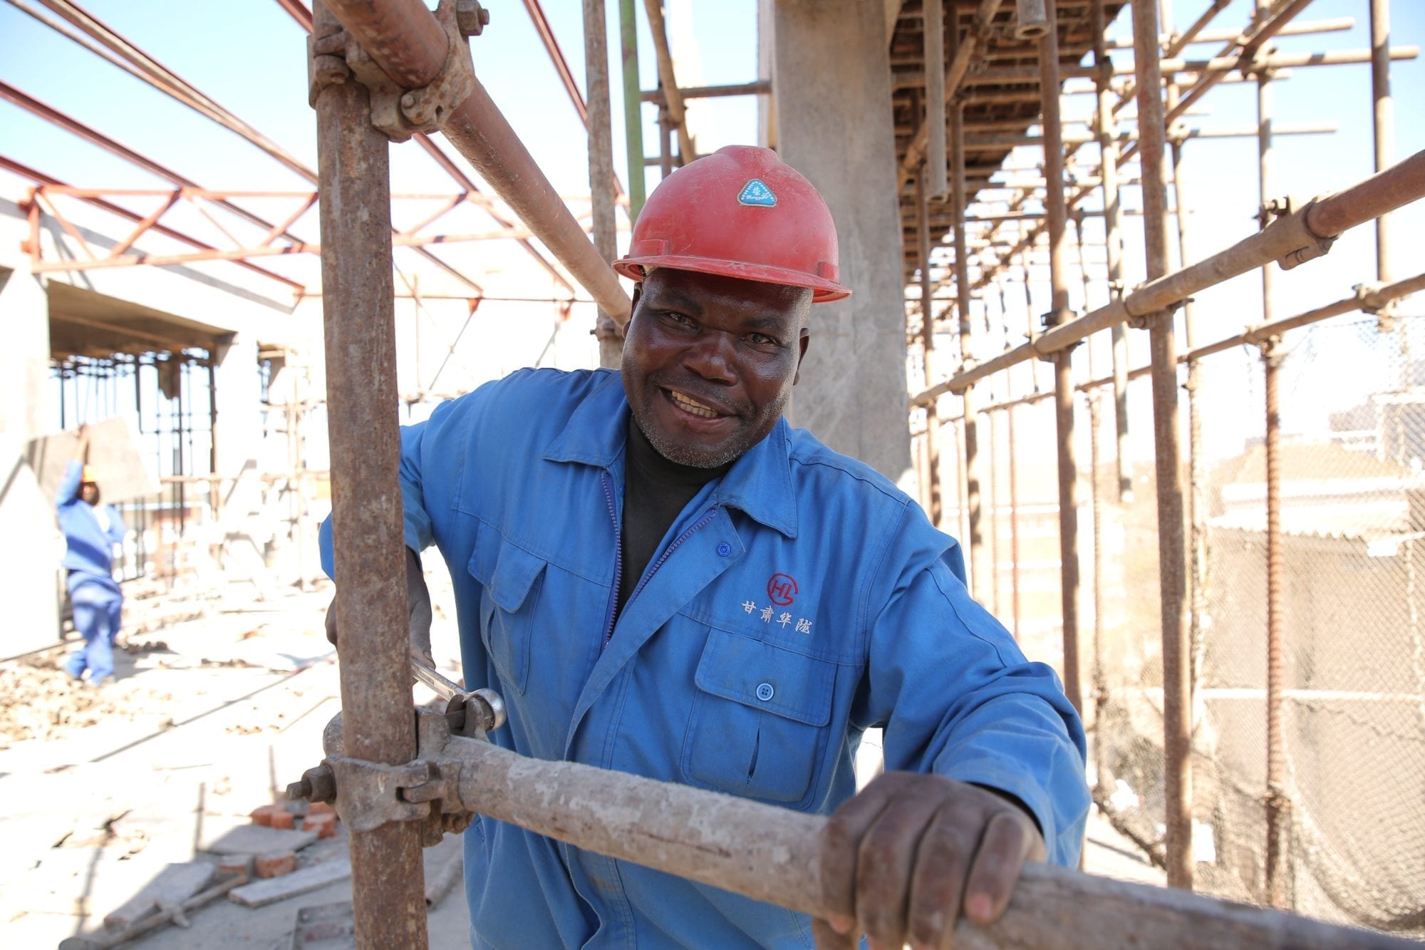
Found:
[[70, 653], [64, 669], [74, 679], [98, 686], [114, 675], [114, 639], [123, 619], [124, 595], [114, 581], [114, 545], [124, 542], [124, 519], [103, 504], [97, 475], [83, 462], [88, 431], [80, 432], [74, 459], [64, 469], [54, 499], [64, 533], [66, 586], [74, 608], [74, 629], [84, 645]]

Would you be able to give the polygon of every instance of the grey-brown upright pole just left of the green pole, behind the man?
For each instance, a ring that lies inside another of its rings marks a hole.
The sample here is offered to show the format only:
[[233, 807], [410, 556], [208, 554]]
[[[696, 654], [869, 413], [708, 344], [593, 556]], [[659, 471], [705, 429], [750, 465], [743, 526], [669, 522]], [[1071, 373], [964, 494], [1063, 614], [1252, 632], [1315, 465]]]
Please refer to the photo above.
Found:
[[[594, 218], [594, 247], [606, 261], [618, 257], [614, 237], [613, 108], [608, 101], [608, 34], [604, 0], [584, 0], [584, 90], [589, 108], [589, 195]], [[643, 168], [630, 171], [643, 173]], [[633, 175], [630, 175], [633, 177]], [[598, 310], [594, 324], [598, 365], [616, 369], [623, 362], [623, 334], [613, 317]]]

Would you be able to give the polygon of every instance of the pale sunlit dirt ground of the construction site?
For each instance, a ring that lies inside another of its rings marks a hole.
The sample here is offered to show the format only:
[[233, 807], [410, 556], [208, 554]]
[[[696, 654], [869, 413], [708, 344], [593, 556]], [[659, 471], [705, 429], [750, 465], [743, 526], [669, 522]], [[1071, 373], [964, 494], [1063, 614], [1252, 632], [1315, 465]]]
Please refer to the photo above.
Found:
[[[439, 576], [436, 660], [459, 678]], [[133, 635], [117, 678], [71, 683], [53, 649], [0, 663], [0, 930], [9, 947], [53, 947], [101, 927], [170, 863], [215, 860], [204, 846], [249, 823], [322, 756], [339, 709], [335, 652], [322, 635], [331, 589], [255, 602], [248, 588], [209, 601], [204, 616]], [[432, 695], [418, 688], [416, 700]], [[878, 743], [864, 745], [866, 766]], [[346, 839], [299, 852], [299, 864], [341, 860]], [[457, 857], [447, 837], [426, 852], [426, 877]], [[1106, 823], [1090, 823], [1086, 869], [1161, 883]], [[162, 927], [147, 949], [294, 946], [296, 914], [351, 900], [349, 882], [248, 909], [218, 899], [191, 929]], [[459, 883], [429, 913], [430, 946], [469, 946]], [[342, 946], [321, 943], [311, 946]], [[349, 946], [349, 944], [346, 944]]]

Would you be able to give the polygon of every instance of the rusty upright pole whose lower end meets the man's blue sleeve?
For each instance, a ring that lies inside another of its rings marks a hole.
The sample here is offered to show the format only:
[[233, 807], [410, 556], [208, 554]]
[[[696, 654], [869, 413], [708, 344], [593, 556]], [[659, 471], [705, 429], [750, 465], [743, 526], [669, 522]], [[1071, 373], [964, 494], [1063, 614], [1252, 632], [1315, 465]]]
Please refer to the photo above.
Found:
[[[1064, 198], [1063, 123], [1059, 114], [1057, 3], [1046, 0], [1049, 30], [1039, 39], [1039, 90], [1043, 97], [1045, 213], [1049, 233], [1049, 325], [1069, 320], [1069, 274], [1064, 240], [1069, 207]], [[1079, 682], [1079, 459], [1074, 451], [1073, 351], [1054, 355], [1054, 424], [1059, 448], [1059, 578], [1063, 615], [1064, 695], [1083, 710]]]

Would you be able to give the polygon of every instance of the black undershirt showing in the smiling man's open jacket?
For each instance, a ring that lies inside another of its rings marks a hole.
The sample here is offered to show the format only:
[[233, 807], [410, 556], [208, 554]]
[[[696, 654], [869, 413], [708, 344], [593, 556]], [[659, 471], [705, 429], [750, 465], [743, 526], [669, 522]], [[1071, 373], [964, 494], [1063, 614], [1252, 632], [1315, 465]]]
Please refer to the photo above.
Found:
[[628, 417], [628, 441], [624, 451], [623, 579], [618, 585], [618, 611], [643, 579], [643, 572], [658, 551], [668, 526], [704, 485], [721, 476], [731, 462], [717, 468], [694, 468], [670, 462], [648, 442], [633, 417]]

